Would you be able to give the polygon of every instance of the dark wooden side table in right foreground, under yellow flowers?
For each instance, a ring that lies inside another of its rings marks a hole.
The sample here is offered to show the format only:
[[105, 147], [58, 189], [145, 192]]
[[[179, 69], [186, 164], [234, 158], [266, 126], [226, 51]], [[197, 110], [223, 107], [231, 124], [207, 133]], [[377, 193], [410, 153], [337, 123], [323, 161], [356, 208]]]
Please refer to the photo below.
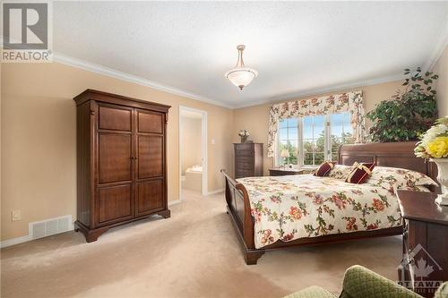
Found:
[[399, 278], [425, 297], [433, 297], [437, 286], [448, 280], [448, 207], [437, 205], [436, 196], [398, 191], [404, 219]]

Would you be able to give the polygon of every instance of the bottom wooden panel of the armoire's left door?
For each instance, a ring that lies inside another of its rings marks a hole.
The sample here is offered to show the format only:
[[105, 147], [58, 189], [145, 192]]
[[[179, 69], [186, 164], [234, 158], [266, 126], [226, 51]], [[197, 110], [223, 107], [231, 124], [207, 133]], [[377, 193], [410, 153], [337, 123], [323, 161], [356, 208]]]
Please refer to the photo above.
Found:
[[133, 217], [132, 185], [99, 188], [98, 223]]

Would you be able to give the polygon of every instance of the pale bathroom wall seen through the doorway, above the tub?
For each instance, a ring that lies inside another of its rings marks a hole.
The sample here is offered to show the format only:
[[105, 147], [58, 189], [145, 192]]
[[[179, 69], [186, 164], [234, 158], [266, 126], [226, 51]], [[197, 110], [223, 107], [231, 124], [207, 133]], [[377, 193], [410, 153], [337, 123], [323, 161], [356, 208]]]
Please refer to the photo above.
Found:
[[201, 165], [202, 120], [182, 117], [182, 175], [194, 165]]

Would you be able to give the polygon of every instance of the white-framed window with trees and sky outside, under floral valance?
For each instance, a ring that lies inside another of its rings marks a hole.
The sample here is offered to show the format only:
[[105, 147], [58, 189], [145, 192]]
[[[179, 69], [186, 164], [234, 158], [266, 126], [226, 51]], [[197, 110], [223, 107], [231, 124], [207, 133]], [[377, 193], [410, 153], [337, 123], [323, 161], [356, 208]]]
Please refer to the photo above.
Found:
[[[354, 142], [350, 113], [281, 119], [277, 165], [319, 166], [337, 160], [340, 145]], [[283, 149], [289, 158], [281, 158]]]

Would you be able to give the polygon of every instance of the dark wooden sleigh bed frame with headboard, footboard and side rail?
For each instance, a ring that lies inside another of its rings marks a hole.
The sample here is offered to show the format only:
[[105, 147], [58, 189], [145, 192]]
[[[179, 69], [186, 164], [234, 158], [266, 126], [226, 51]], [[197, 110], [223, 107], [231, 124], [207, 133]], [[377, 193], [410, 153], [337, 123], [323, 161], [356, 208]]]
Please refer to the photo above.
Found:
[[[426, 163], [422, 158], [414, 156], [415, 142], [370, 143], [344, 145], [340, 148], [338, 163], [351, 166], [355, 161], [376, 162], [377, 166], [401, 167], [418, 171], [435, 180], [436, 166]], [[368, 237], [391, 236], [402, 233], [402, 226], [394, 226], [371, 231], [358, 231], [343, 234], [328, 234], [316, 237], [299, 238], [289, 242], [277, 241], [256, 249], [254, 245], [254, 217], [246, 187], [230, 177], [225, 170], [221, 173], [226, 178], [226, 201], [228, 215], [237, 230], [237, 237], [242, 245], [247, 265], [256, 264], [265, 251], [295, 246], [317, 245], [325, 243], [341, 243]], [[438, 191], [431, 189], [431, 191]]]

